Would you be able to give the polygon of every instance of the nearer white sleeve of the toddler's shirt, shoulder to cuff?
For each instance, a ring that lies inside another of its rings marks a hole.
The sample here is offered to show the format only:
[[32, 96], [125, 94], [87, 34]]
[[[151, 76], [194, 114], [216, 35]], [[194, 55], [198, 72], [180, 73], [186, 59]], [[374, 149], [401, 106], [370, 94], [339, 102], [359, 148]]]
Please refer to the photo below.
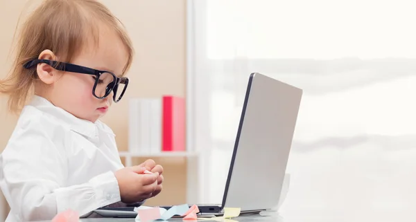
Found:
[[121, 201], [113, 172], [65, 187], [71, 172], [64, 151], [56, 146], [39, 130], [22, 130], [10, 138], [0, 156], [0, 187], [10, 213], [20, 221], [50, 220], [64, 210], [82, 216]]

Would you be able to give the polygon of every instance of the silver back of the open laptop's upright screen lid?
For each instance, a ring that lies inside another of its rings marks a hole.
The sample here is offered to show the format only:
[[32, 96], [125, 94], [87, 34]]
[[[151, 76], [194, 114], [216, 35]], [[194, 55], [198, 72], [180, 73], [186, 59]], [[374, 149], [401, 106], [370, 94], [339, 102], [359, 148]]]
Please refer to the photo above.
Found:
[[301, 98], [302, 89], [250, 75], [221, 207], [277, 207]]

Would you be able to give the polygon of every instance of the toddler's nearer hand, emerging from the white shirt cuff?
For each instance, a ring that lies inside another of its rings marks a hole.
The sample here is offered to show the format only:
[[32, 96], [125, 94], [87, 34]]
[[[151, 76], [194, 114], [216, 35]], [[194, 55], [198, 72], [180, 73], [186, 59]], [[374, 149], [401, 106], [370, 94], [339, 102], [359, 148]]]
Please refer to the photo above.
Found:
[[123, 203], [135, 203], [150, 198], [157, 192], [159, 173], [144, 174], [142, 166], [125, 167], [117, 170], [114, 175], [119, 182], [120, 196]]

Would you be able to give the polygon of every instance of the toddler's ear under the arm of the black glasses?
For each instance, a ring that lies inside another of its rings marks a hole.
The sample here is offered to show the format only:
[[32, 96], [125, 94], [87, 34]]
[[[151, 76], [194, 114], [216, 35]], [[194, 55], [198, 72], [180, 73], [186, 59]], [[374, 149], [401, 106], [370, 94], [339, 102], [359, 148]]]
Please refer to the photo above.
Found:
[[[55, 54], [49, 50], [43, 50], [42, 53], [40, 53], [39, 57], [37, 59], [49, 59], [54, 60]], [[55, 71], [52, 66], [49, 66], [49, 64], [40, 63], [37, 64], [37, 76], [44, 82], [45, 84], [53, 84], [57, 79], [59, 72]]]

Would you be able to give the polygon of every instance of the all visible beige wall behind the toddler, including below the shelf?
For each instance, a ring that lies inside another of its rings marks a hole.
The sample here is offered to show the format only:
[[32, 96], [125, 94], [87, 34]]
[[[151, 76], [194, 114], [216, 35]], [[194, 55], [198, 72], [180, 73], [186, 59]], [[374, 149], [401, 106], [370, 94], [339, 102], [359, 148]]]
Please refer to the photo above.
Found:
[[[186, 1], [185, 0], [103, 0], [123, 21], [136, 54], [128, 73], [130, 84], [125, 97], [103, 120], [116, 133], [119, 150], [128, 148], [128, 98], [164, 94], [185, 95]], [[15, 25], [26, 1], [0, 1], [0, 77], [10, 68], [8, 59]], [[6, 98], [0, 98], [0, 150], [15, 126], [16, 117], [6, 113]], [[166, 169], [164, 192], [148, 204], [175, 204], [186, 200], [186, 160], [157, 159]], [[139, 161], [139, 160], [137, 160]], [[178, 176], [180, 175], [180, 176]], [[1, 219], [0, 219], [1, 220]]]

